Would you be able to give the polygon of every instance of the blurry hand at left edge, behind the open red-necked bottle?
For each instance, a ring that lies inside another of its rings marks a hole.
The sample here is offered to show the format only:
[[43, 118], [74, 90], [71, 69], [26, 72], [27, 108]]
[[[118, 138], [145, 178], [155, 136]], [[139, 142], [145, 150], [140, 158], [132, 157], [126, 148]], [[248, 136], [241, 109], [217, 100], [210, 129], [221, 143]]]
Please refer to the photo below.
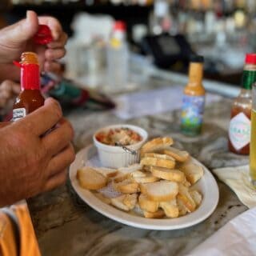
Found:
[[0, 109], [13, 105], [14, 98], [20, 92], [20, 85], [16, 82], [6, 80], [0, 84]]

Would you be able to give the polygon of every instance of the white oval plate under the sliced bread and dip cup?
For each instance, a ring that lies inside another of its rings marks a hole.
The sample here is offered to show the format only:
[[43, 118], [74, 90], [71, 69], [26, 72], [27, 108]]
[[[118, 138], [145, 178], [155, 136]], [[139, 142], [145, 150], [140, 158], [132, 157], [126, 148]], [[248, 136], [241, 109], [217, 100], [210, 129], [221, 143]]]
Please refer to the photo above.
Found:
[[[202, 164], [194, 158], [193, 162], [202, 166]], [[194, 186], [202, 193], [203, 199], [201, 205], [193, 213], [180, 218], [163, 219], [150, 219], [128, 214], [122, 210], [114, 208], [114, 206], [107, 205], [105, 202], [96, 198], [90, 190], [82, 189], [78, 185], [76, 174], [78, 168], [82, 166], [99, 166], [97, 151], [93, 145], [80, 150], [76, 155], [74, 162], [70, 166], [71, 184], [79, 197], [94, 210], [97, 210], [108, 218], [112, 218], [117, 222], [122, 222], [129, 226], [148, 230], [178, 230], [202, 222], [214, 212], [218, 204], [218, 185], [214, 176], [205, 166], [203, 166], [205, 173], [200, 181]]]

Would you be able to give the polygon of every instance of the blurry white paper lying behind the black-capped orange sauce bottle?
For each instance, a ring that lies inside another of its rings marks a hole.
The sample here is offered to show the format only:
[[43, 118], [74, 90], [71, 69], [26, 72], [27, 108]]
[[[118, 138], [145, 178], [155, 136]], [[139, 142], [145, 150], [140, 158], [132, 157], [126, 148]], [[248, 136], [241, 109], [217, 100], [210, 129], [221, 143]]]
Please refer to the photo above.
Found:
[[[182, 86], [171, 86], [118, 96], [115, 98], [117, 107], [114, 113], [118, 118], [130, 119], [180, 109], [182, 90]], [[206, 105], [210, 102], [217, 102], [221, 98], [217, 94], [207, 93]]]

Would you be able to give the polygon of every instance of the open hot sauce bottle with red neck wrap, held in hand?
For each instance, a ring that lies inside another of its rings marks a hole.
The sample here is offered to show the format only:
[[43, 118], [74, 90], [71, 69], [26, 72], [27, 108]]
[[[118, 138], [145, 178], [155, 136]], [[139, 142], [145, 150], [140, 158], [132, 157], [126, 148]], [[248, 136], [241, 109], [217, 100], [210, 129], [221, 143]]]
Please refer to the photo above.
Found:
[[13, 107], [13, 121], [24, 118], [44, 104], [40, 91], [40, 74], [38, 56], [32, 52], [22, 54], [22, 61], [18, 64], [21, 68], [21, 93], [16, 98]]

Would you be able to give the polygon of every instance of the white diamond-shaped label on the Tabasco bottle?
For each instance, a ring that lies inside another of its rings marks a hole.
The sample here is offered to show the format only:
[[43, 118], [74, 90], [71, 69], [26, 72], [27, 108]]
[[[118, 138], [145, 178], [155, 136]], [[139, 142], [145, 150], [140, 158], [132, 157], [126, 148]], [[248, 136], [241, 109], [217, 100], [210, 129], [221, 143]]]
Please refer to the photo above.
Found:
[[235, 150], [241, 150], [250, 143], [250, 119], [246, 114], [241, 112], [231, 119], [229, 136]]

